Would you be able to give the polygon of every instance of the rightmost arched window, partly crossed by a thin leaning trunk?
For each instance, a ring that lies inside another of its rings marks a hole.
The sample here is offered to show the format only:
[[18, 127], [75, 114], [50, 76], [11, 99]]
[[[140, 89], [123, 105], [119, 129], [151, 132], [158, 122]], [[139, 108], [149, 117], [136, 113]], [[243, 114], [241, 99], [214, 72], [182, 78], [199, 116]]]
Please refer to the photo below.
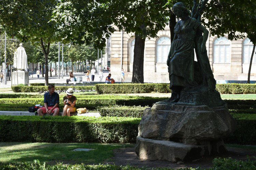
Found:
[[[243, 43], [243, 63], [250, 64], [253, 52], [253, 43], [249, 38], [246, 38]], [[255, 54], [253, 54], [253, 63], [256, 63]]]

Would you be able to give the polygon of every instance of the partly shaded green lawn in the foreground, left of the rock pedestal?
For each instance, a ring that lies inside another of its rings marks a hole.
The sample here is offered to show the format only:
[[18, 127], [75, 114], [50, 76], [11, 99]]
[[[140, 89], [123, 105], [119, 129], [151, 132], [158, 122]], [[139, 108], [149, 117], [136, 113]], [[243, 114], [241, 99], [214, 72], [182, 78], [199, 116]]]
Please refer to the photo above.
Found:
[[[33, 161], [71, 164], [99, 164], [114, 156], [113, 150], [134, 147], [133, 144], [99, 144], [99, 143], [25, 143], [0, 142], [0, 162], [15, 163]], [[76, 148], [95, 149], [88, 152], [72, 151]]]

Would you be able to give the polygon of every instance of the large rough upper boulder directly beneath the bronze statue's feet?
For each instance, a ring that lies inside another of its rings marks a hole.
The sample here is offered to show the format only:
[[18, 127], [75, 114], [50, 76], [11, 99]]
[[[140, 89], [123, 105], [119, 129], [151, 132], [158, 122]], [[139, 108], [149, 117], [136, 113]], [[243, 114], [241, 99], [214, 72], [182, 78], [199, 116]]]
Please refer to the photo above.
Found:
[[200, 141], [219, 140], [229, 136], [236, 125], [226, 104], [210, 108], [206, 105], [156, 103], [152, 108], [145, 109], [138, 135], [198, 145]]

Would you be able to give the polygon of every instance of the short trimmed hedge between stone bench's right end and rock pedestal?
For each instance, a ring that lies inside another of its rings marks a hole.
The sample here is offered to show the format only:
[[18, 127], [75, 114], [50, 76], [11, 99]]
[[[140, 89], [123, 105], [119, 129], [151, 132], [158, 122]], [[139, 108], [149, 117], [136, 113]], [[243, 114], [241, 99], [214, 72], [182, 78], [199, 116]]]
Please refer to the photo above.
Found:
[[100, 107], [100, 115], [116, 116], [116, 117], [135, 117], [141, 118], [146, 107], [141, 106], [113, 106], [113, 107]]

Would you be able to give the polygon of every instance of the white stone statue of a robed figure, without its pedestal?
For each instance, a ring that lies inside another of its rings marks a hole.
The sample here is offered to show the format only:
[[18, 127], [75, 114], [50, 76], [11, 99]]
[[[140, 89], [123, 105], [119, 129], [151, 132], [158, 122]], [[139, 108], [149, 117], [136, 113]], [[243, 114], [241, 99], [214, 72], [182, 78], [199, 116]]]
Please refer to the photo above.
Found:
[[28, 61], [25, 48], [22, 47], [22, 43], [19, 44], [13, 59], [14, 68], [18, 70], [28, 71]]

